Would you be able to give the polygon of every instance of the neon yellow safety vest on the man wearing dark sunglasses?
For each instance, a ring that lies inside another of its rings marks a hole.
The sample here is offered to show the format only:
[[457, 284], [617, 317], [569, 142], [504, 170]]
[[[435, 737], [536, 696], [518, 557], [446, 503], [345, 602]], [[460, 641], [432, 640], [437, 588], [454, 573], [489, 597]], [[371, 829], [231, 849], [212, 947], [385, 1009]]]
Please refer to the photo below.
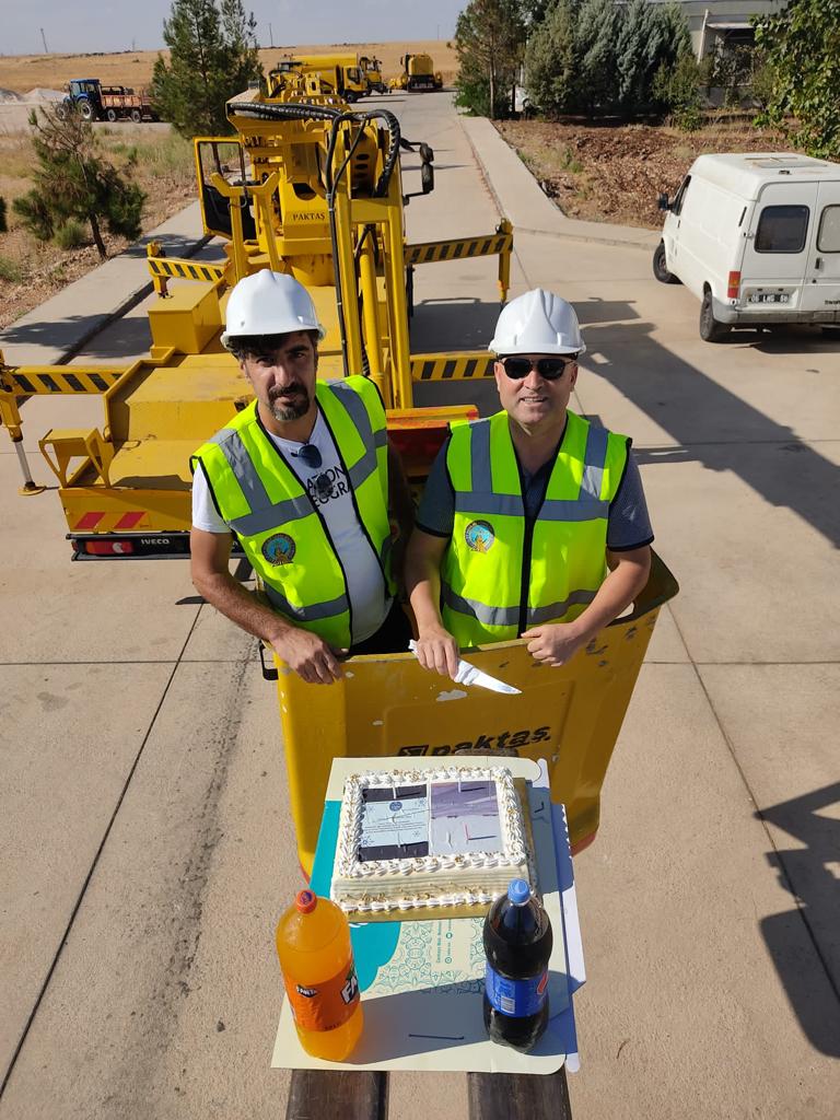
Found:
[[573, 412], [529, 524], [507, 413], [460, 424], [447, 452], [455, 524], [441, 569], [444, 625], [460, 646], [571, 622], [606, 576], [607, 517], [629, 440]]

